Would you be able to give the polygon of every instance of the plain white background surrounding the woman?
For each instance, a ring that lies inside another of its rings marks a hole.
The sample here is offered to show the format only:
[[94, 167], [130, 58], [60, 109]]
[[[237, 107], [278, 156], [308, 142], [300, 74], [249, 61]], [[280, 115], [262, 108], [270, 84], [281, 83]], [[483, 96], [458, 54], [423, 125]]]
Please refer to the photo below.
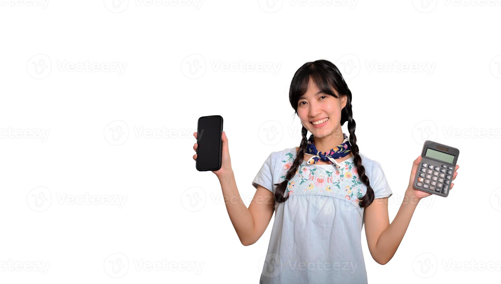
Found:
[[270, 152], [300, 143], [289, 84], [321, 58], [353, 93], [390, 221], [423, 141], [460, 150], [386, 265], [363, 230], [369, 281], [499, 278], [499, 0], [0, 3], [0, 281], [257, 283], [273, 218], [240, 243], [192, 133], [223, 116], [248, 205]]

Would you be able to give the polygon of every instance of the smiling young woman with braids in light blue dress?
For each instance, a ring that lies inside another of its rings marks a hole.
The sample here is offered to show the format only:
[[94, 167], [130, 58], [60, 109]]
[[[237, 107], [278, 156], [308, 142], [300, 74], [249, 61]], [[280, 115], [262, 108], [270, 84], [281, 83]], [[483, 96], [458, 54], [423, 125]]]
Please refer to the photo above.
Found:
[[[289, 100], [303, 124], [300, 146], [268, 156], [252, 182], [257, 191], [248, 208], [222, 133], [222, 166], [213, 172], [231, 222], [241, 243], [249, 245], [261, 237], [275, 211], [260, 283], [367, 283], [362, 226], [372, 258], [387, 263], [417, 203], [431, 195], [413, 187], [421, 156], [412, 164], [404, 201], [390, 224], [392, 191], [381, 164], [359, 152], [352, 94], [339, 69], [327, 60], [305, 63], [294, 74]], [[341, 130], [345, 122], [349, 138]]]

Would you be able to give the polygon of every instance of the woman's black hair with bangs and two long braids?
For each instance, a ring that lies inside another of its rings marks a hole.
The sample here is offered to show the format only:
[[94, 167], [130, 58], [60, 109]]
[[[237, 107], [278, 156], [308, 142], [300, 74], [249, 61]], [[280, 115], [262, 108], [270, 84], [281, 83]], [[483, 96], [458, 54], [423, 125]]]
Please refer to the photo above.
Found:
[[[291, 102], [291, 105], [294, 108], [296, 114], [298, 114], [299, 97], [306, 93], [310, 78], [313, 79], [313, 81], [317, 84], [317, 86], [323, 93], [330, 94], [337, 98], [339, 98], [339, 96], [347, 97], [346, 105], [341, 110], [340, 123], [341, 125], [343, 125], [346, 121], [348, 121], [348, 131], [350, 133], [349, 140], [351, 144], [351, 152], [354, 156], [354, 164], [357, 168], [360, 180], [367, 187], [365, 195], [360, 199], [359, 206], [366, 207], [370, 205], [374, 200], [374, 190], [370, 186], [369, 178], [365, 174], [365, 168], [362, 165], [362, 158], [360, 156], [359, 148], [357, 145], [357, 136], [355, 135], [356, 123], [355, 119], [353, 119], [351, 91], [348, 88], [348, 85], [346, 84], [338, 67], [336, 67], [336, 65], [334, 65], [332, 62], [325, 59], [306, 62], [294, 74], [294, 77], [291, 81], [291, 87], [289, 89], [289, 101]], [[339, 96], [336, 95], [332, 88], [334, 88], [339, 93]], [[308, 130], [303, 125], [301, 129], [302, 139], [299, 148], [296, 151], [296, 158], [287, 171], [285, 180], [280, 183], [275, 183], [277, 190], [275, 191], [274, 198], [277, 204], [285, 202], [289, 198], [289, 194], [287, 194], [286, 196], [284, 195], [287, 186], [289, 186], [289, 180], [291, 180], [294, 175], [296, 175], [299, 165], [304, 159], [306, 146], [308, 144], [308, 138], [306, 137], [307, 133]]]

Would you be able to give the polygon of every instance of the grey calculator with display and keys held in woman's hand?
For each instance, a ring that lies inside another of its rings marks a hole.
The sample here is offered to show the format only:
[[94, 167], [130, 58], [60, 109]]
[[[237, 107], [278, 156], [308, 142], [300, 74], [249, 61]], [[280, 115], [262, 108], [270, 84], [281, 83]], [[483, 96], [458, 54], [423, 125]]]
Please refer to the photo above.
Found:
[[458, 155], [457, 148], [430, 140], [424, 141], [414, 188], [447, 197]]

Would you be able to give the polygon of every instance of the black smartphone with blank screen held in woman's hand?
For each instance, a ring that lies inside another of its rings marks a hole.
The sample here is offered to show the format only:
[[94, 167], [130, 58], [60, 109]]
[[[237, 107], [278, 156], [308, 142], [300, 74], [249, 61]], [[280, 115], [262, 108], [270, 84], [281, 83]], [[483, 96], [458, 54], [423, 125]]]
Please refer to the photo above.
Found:
[[222, 160], [222, 116], [207, 115], [198, 118], [196, 142], [196, 169], [218, 170]]

